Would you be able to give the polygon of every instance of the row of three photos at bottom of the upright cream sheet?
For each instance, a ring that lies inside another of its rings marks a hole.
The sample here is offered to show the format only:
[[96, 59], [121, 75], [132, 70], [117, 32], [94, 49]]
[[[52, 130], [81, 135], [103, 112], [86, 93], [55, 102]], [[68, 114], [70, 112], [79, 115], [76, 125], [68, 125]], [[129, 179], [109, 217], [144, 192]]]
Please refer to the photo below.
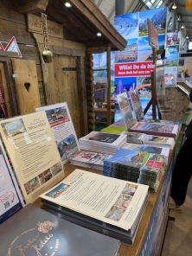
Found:
[[23, 184], [27, 195], [34, 192], [35, 189], [38, 189], [45, 182], [48, 182], [52, 177], [61, 172], [61, 170], [61, 162], [55, 163], [50, 169], [43, 171], [38, 176], [35, 176], [33, 179], [29, 180], [29, 182]]

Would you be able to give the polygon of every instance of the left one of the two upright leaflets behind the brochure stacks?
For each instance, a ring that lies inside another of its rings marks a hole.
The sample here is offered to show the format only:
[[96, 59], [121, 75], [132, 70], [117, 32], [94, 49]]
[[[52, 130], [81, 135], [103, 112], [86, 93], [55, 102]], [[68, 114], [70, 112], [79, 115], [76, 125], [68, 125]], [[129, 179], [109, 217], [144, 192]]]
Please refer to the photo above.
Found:
[[124, 118], [126, 129], [128, 130], [132, 125], [134, 125], [129, 99], [126, 93], [118, 94], [117, 99], [118, 99], [118, 105], [119, 105], [120, 111]]

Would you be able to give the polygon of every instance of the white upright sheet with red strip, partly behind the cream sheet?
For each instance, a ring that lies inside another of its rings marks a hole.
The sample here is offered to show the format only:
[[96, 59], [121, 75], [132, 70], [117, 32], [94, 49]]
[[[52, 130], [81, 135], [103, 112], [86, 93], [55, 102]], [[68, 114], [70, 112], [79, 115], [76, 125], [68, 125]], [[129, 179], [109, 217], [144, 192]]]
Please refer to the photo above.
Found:
[[68, 158], [73, 157], [80, 151], [67, 102], [51, 106], [36, 107], [35, 110], [36, 112], [45, 111], [61, 156], [62, 164], [67, 163]]

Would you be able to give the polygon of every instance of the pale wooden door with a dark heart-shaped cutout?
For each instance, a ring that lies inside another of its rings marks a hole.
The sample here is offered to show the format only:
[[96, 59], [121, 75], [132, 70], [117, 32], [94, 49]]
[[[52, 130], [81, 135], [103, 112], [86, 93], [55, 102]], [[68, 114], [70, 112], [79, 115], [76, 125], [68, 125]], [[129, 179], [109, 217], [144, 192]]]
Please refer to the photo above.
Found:
[[[16, 74], [16, 101], [20, 115], [35, 112], [41, 106], [35, 61], [11, 59]], [[29, 86], [29, 87], [28, 87]]]

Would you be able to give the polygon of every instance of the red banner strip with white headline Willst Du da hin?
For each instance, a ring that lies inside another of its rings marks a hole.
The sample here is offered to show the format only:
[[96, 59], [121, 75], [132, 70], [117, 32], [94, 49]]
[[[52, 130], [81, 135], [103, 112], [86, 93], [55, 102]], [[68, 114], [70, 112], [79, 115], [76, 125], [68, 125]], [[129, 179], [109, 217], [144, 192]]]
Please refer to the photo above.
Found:
[[152, 61], [115, 64], [115, 76], [150, 76], [150, 72], [154, 71], [154, 67]]

